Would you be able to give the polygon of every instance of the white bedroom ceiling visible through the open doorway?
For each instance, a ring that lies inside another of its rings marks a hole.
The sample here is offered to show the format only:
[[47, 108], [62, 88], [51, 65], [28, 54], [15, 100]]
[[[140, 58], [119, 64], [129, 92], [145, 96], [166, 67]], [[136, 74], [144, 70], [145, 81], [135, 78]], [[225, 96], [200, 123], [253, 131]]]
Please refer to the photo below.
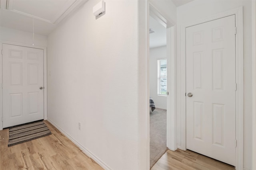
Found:
[[155, 48], [166, 45], [166, 28], [151, 16], [149, 16], [149, 27], [155, 31], [149, 34], [149, 47]]

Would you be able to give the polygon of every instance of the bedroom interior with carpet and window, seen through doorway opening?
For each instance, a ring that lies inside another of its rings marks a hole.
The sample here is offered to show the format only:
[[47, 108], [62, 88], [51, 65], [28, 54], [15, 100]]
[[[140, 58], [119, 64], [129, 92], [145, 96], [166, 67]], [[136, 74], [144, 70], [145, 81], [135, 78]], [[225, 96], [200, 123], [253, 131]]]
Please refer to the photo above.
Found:
[[[149, 16], [150, 167], [168, 149], [166, 146], [167, 61], [166, 28]], [[152, 102], [150, 102], [151, 104]]]

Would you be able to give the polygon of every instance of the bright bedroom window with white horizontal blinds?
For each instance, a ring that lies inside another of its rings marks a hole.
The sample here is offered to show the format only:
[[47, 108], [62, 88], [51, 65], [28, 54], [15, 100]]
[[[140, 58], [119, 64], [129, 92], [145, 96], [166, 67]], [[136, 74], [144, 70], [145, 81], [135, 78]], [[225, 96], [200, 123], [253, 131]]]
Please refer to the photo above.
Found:
[[165, 95], [167, 92], [167, 69], [166, 59], [158, 60], [158, 95]]

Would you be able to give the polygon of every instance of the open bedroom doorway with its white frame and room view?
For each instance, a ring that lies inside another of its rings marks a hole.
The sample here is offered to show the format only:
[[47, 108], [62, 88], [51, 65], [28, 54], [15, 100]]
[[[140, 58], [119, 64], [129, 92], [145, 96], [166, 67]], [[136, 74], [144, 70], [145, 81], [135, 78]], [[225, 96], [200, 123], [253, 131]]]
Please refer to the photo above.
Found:
[[166, 152], [176, 150], [175, 29], [150, 4], [149, 89], [156, 109], [150, 108], [150, 168]]

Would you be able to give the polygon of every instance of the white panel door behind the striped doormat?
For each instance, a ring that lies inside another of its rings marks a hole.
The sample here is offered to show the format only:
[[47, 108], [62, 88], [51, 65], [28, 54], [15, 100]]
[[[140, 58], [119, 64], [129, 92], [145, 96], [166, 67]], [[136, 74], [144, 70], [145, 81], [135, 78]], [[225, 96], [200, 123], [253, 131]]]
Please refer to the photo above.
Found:
[[3, 44], [3, 127], [44, 119], [43, 50]]

